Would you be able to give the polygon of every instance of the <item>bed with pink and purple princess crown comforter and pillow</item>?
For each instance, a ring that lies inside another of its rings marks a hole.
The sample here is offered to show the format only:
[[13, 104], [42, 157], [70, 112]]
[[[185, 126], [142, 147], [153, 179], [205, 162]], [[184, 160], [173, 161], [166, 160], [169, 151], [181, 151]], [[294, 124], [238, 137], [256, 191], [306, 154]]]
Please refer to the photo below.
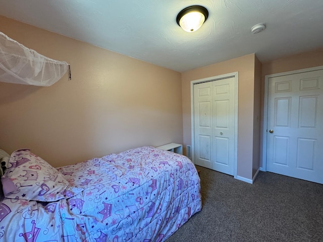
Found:
[[201, 210], [193, 163], [152, 146], [59, 168], [28, 149], [5, 157], [1, 241], [164, 241]]

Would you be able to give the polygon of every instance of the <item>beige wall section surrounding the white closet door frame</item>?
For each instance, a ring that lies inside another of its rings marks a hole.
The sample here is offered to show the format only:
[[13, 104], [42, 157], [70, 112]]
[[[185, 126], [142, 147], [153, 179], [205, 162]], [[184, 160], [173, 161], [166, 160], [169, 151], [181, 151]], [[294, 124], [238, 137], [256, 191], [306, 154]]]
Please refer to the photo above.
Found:
[[252, 179], [253, 166], [254, 68], [255, 54], [249, 54], [182, 73], [183, 143], [186, 147], [186, 145], [191, 145], [190, 82], [239, 72], [237, 174], [247, 179]]

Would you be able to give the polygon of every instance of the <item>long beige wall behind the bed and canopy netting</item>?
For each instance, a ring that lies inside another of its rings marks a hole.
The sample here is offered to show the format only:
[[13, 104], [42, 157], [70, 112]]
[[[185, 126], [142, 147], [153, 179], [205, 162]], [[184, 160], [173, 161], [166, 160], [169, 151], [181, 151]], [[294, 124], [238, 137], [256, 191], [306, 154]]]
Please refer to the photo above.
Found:
[[50, 87], [0, 82], [0, 148], [53, 166], [183, 143], [181, 74], [0, 16], [0, 31], [71, 64]]

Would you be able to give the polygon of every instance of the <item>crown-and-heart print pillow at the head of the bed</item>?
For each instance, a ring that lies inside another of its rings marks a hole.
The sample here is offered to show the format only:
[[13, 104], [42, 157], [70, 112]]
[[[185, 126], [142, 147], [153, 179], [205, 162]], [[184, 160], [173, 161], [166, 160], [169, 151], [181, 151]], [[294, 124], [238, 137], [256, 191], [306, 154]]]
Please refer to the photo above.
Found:
[[29, 149], [14, 151], [8, 166], [2, 177], [6, 198], [55, 202], [84, 190], [70, 186], [61, 172]]

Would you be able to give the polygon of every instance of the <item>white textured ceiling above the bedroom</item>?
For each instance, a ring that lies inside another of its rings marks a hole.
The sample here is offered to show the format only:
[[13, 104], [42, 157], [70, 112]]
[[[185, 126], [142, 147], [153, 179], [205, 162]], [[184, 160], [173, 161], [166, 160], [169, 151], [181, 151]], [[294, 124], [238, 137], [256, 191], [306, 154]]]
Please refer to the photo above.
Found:
[[[176, 16], [191, 5], [209, 17], [187, 33]], [[323, 47], [323, 0], [0, 0], [0, 15], [178, 72]], [[251, 34], [261, 22], [265, 31]]]

